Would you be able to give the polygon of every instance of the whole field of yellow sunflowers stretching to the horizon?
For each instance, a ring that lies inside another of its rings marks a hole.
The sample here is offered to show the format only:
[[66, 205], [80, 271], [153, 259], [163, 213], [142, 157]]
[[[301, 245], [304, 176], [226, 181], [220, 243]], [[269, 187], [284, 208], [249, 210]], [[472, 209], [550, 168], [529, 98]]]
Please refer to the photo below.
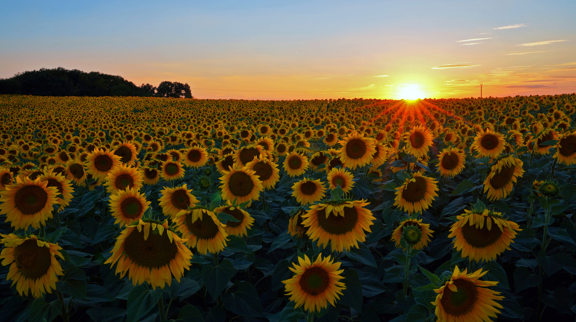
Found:
[[574, 321], [575, 106], [0, 95], [0, 321]]

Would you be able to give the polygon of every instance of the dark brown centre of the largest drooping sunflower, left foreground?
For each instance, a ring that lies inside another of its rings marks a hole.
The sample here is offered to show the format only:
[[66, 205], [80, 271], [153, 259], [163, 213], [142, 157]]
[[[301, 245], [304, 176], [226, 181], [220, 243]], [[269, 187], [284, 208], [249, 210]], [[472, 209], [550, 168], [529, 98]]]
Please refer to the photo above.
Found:
[[144, 229], [141, 232], [134, 229], [124, 240], [124, 252], [132, 262], [139, 266], [149, 269], [165, 266], [178, 254], [178, 246], [175, 242], [170, 242], [169, 233], [169, 231], [164, 231], [160, 235], [158, 229], [154, 229], [144, 240]]

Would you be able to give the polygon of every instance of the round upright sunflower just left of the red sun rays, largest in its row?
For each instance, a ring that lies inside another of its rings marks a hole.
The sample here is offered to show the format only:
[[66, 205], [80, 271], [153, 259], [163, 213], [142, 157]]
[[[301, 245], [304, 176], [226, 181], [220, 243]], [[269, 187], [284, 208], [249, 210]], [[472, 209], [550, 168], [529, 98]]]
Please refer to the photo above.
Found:
[[340, 159], [351, 169], [369, 164], [372, 160], [372, 155], [376, 153], [374, 139], [363, 137], [357, 132], [350, 133], [338, 143], [342, 144], [342, 148], [339, 151]]

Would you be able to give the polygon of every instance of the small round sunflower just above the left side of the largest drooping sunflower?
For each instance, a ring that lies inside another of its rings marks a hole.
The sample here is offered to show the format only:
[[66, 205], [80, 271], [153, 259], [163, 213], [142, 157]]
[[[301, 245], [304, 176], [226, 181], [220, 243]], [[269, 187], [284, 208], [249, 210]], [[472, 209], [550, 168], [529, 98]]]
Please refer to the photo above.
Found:
[[122, 227], [141, 219], [150, 201], [146, 201], [146, 196], [138, 190], [127, 188], [119, 190], [118, 194], [111, 194], [109, 205], [112, 216], [116, 218], [114, 224], [120, 224]]

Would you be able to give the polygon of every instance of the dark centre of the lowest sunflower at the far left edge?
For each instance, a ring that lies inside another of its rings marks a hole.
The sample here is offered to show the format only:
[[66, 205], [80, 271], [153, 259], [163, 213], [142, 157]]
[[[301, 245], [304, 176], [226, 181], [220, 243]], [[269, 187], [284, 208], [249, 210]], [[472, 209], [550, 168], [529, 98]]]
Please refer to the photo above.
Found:
[[14, 262], [24, 277], [37, 279], [48, 273], [51, 264], [50, 248], [40, 247], [35, 239], [28, 239], [14, 248]]

